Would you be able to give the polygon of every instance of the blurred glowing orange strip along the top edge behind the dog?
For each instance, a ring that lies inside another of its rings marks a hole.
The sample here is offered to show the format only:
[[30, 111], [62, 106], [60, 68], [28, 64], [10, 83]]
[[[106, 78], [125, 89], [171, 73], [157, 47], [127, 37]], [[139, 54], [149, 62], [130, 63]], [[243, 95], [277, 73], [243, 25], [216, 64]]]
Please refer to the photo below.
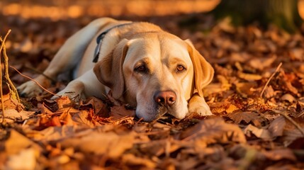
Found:
[[4, 16], [51, 18], [80, 16], [165, 16], [210, 11], [220, 0], [1, 0]]

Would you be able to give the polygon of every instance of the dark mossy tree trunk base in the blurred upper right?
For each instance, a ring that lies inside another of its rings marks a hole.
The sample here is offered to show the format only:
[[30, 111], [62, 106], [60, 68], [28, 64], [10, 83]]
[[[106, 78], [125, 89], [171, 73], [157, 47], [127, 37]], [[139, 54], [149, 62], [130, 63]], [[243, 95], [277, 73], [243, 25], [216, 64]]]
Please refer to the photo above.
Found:
[[274, 23], [289, 32], [302, 23], [296, 0], [223, 0], [211, 13], [216, 18], [230, 16], [236, 26], [259, 21], [261, 26]]

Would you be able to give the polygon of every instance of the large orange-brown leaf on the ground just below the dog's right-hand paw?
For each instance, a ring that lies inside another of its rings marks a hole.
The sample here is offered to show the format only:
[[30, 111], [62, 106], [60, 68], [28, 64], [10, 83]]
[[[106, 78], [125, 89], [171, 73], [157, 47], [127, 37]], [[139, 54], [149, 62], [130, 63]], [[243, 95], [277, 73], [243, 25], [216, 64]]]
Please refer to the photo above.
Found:
[[201, 120], [197, 125], [181, 132], [182, 140], [197, 140], [202, 144], [246, 142], [242, 130], [237, 126], [225, 123], [222, 118]]

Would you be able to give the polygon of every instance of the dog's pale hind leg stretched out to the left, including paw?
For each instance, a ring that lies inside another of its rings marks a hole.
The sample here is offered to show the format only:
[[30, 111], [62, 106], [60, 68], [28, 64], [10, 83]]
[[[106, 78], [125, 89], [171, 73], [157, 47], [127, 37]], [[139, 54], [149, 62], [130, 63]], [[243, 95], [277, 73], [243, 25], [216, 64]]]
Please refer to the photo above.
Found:
[[[76, 67], [81, 61], [81, 57], [83, 57], [86, 47], [89, 45], [89, 42], [93, 40], [96, 33], [113, 21], [115, 20], [111, 18], [98, 18], [72, 35], [72, 37], [64, 42], [64, 45], [62, 45], [43, 74], [52, 79], [56, 79], [58, 74], [67, 72]], [[50, 80], [45, 76], [40, 75], [35, 78], [35, 81], [42, 86], [49, 86]], [[35, 96], [42, 91], [42, 89], [33, 81], [27, 81], [21, 86], [18, 86], [17, 89], [19, 93], [21, 93], [21, 96]]]

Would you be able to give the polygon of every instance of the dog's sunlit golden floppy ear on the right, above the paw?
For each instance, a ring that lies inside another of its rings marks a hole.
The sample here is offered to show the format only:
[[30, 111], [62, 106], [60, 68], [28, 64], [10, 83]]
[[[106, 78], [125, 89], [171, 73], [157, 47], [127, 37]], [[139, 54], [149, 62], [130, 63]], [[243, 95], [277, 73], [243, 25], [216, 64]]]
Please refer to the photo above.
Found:
[[190, 40], [185, 40], [194, 69], [194, 84], [198, 95], [203, 97], [203, 87], [210, 84], [214, 69], [209, 62], [195, 49]]

